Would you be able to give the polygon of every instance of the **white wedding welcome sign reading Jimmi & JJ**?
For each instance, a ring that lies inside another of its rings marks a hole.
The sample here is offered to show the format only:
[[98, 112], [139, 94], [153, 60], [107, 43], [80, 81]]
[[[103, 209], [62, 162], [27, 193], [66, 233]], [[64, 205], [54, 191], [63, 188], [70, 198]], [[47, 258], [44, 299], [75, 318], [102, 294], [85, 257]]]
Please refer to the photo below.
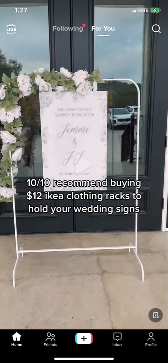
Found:
[[40, 92], [44, 191], [106, 189], [57, 187], [53, 180], [104, 180], [107, 176], [107, 91]]

